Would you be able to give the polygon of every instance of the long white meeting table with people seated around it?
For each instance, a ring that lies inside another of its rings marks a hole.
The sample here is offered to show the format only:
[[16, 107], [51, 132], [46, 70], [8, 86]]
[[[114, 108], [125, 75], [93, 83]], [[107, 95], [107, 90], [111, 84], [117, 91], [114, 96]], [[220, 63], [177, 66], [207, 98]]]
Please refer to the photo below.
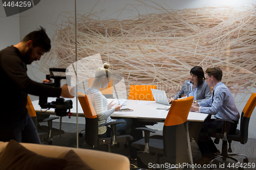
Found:
[[[48, 102], [55, 101], [56, 98], [48, 98]], [[73, 99], [65, 99], [65, 100], [72, 100], [73, 102], [73, 108], [71, 109], [72, 116], [76, 116], [76, 112], [78, 113], [78, 116], [84, 117], [82, 107], [77, 100], [77, 111], [76, 111], [76, 98]], [[117, 99], [108, 99], [108, 102], [117, 103]], [[35, 111], [38, 113], [44, 114], [55, 114], [54, 109], [49, 109], [46, 111], [46, 109], [41, 109], [41, 107], [38, 104], [37, 101], [33, 101], [32, 104], [35, 108]], [[163, 109], [156, 109], [157, 107], [163, 107], [166, 105], [158, 104], [155, 101], [137, 101], [137, 100], [127, 100], [126, 103], [123, 104], [122, 109], [129, 108], [133, 109], [134, 111], [129, 112], [114, 112], [112, 113], [112, 118], [122, 118], [122, 117], [131, 117], [131, 118], [138, 118], [142, 121], [147, 122], [164, 122], [168, 111]], [[166, 106], [170, 107], [170, 106]], [[46, 111], [46, 112], [45, 112]], [[199, 112], [189, 112], [187, 120], [188, 121], [195, 121], [195, 122], [204, 122], [208, 114], [205, 113], [199, 113]], [[60, 129], [61, 129], [61, 117], [60, 117]], [[188, 142], [188, 152], [189, 152], [189, 161], [191, 164], [193, 164], [193, 157], [191, 153], [191, 147], [190, 147], [190, 140], [189, 140], [189, 134], [188, 134], [188, 126], [187, 126], [187, 142]], [[194, 170], [194, 167], [191, 166], [191, 169]]]

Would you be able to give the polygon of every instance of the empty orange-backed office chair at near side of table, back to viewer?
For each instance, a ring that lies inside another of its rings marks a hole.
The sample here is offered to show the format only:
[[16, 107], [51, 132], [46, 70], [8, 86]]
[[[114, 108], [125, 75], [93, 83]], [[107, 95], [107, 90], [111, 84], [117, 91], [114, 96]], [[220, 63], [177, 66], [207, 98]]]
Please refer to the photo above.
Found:
[[[163, 156], [173, 158], [174, 164], [180, 163], [184, 155], [188, 155], [190, 163], [193, 163], [191, 157], [191, 150], [189, 148], [189, 137], [187, 127], [187, 116], [190, 107], [193, 103], [194, 97], [189, 96], [186, 99], [175, 100], [170, 106], [169, 112], [164, 121], [163, 136], [151, 136], [150, 132], [154, 133], [155, 130], [149, 128], [136, 128], [145, 133], [145, 138], [132, 143], [135, 147], [146, 153], [157, 153], [158, 164], [162, 164]], [[189, 151], [189, 152], [188, 152]]]

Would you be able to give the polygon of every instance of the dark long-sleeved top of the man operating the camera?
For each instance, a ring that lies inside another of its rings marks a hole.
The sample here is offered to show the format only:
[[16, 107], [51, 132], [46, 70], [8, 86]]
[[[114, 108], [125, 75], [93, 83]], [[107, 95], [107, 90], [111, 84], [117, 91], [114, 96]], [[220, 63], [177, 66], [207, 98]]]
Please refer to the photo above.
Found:
[[14, 46], [0, 51], [0, 124], [19, 122], [28, 114], [27, 95], [59, 97], [61, 88], [31, 80], [22, 54]]

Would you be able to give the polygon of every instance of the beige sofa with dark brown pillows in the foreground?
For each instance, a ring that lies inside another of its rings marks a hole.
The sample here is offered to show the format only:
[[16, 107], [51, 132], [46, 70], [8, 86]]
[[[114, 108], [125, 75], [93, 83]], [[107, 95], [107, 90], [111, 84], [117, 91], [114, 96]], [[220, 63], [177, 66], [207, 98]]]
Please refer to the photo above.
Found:
[[[8, 145], [8, 147], [7, 147]], [[23, 153], [26, 150], [25, 154]], [[72, 153], [71, 153], [72, 150]], [[32, 151], [32, 152], [31, 152]], [[74, 152], [73, 152], [74, 151]], [[29, 152], [29, 154], [27, 154]], [[10, 155], [13, 153], [13, 155]], [[0, 169], [4, 169], [3, 165], [6, 162], [13, 161], [13, 163], [23, 164], [27, 162], [27, 159], [34, 159], [28, 161], [28, 166], [32, 166], [32, 163], [40, 164], [40, 166], [44, 166], [47, 163], [53, 161], [57, 167], [62, 166], [61, 161], [62, 158], [66, 157], [69, 154], [68, 160], [72, 161], [73, 165], [70, 169], [79, 169], [76, 168], [76, 160], [82, 160], [83, 163], [87, 164], [90, 168], [88, 169], [99, 169], [99, 170], [128, 170], [130, 168], [130, 161], [127, 157], [119, 154], [113, 154], [108, 152], [96, 151], [96, 150], [88, 150], [88, 149], [77, 149], [77, 148], [68, 148], [68, 147], [59, 147], [54, 145], [41, 145], [41, 144], [32, 144], [32, 143], [18, 143], [15, 140], [11, 140], [10, 142], [2, 142], [0, 141]], [[20, 155], [19, 155], [20, 154]], [[77, 155], [78, 157], [74, 156]], [[19, 155], [19, 156], [18, 156]], [[40, 158], [37, 158], [40, 156]], [[17, 158], [15, 158], [17, 157]], [[50, 160], [44, 160], [44, 159]], [[9, 160], [10, 159], [10, 160]], [[16, 159], [16, 160], [14, 160]], [[24, 160], [22, 160], [24, 159]], [[53, 159], [53, 160], [52, 160]], [[73, 159], [73, 160], [72, 160]], [[75, 159], [75, 161], [74, 161]], [[74, 164], [75, 163], [75, 164]], [[50, 163], [49, 163], [50, 164]], [[58, 164], [58, 165], [57, 165]], [[12, 164], [13, 165], [13, 164]], [[70, 164], [71, 165], [71, 164]], [[54, 165], [53, 165], [54, 166]], [[22, 168], [24, 167], [24, 168]], [[52, 167], [52, 166], [51, 166]], [[15, 169], [10, 167], [5, 167], [7, 169]], [[25, 166], [20, 166], [19, 169], [25, 169]], [[28, 169], [26, 167], [26, 169]], [[34, 168], [33, 168], [34, 169]], [[37, 170], [40, 169], [36, 168]], [[56, 169], [53, 167], [53, 169]], [[59, 168], [59, 169], [62, 169]], [[68, 168], [67, 168], [68, 169]], [[81, 168], [87, 169], [87, 168]]]

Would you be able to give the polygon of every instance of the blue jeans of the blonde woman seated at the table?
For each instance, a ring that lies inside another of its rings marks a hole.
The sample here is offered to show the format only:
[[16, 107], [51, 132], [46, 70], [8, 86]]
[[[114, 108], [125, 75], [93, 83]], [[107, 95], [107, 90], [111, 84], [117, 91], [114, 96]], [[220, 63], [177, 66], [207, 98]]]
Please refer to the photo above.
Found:
[[[125, 123], [123, 124], [117, 124], [116, 125], [116, 135], [120, 135], [123, 132], [126, 132], [133, 136], [134, 140], [129, 141], [129, 151], [130, 151], [130, 157], [131, 159], [136, 159], [137, 158], [137, 149], [132, 147], [132, 143], [134, 141], [139, 140], [142, 137], [139, 137], [139, 131], [135, 130], [136, 128], [139, 127], [139, 122], [137, 118], [122, 118], [116, 120], [116, 122], [124, 120]], [[111, 128], [108, 127], [105, 133], [99, 135], [99, 137], [110, 137], [111, 135]]]

